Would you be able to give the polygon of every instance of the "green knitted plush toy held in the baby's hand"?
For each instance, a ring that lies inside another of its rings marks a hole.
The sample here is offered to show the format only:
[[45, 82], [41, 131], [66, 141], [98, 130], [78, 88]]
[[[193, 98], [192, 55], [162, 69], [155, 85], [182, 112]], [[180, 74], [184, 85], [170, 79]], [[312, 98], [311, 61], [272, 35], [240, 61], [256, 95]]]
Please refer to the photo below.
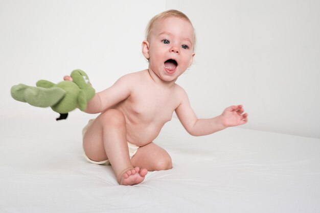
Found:
[[74, 70], [71, 75], [73, 81], [62, 81], [54, 84], [47, 80], [40, 80], [35, 86], [18, 84], [12, 86], [11, 96], [17, 101], [27, 102], [32, 106], [51, 107], [60, 113], [56, 120], [66, 119], [68, 112], [79, 108], [86, 109], [87, 102], [95, 96], [95, 89], [89, 78], [80, 69]]

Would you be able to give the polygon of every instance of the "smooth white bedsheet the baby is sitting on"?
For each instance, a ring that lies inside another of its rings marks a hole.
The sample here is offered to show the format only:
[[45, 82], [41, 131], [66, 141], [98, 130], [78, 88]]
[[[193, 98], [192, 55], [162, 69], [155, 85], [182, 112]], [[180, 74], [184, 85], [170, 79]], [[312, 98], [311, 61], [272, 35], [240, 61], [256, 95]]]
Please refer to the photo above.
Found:
[[320, 212], [320, 139], [243, 128], [193, 137], [173, 119], [155, 140], [173, 169], [121, 186], [83, 158], [86, 122], [2, 122], [0, 212]]

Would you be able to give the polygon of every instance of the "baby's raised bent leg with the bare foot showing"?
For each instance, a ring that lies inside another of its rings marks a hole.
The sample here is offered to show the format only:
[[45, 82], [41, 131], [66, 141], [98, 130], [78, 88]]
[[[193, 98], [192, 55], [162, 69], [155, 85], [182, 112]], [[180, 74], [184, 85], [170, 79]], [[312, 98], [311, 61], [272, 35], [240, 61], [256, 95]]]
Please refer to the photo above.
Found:
[[100, 114], [88, 128], [83, 148], [88, 158], [94, 161], [109, 159], [120, 184], [133, 185], [144, 180], [147, 170], [132, 167], [126, 134], [123, 113], [110, 109]]

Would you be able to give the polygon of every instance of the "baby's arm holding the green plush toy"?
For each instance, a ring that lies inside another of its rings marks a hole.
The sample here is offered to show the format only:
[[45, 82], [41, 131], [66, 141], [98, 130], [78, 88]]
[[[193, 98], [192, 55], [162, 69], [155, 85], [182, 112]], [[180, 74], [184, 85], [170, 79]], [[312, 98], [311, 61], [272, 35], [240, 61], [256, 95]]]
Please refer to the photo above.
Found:
[[[70, 76], [63, 78], [66, 81], [72, 81]], [[100, 113], [108, 108], [120, 103], [130, 96], [132, 79], [128, 75], [121, 77], [111, 87], [97, 92], [88, 104], [84, 112], [95, 114]]]

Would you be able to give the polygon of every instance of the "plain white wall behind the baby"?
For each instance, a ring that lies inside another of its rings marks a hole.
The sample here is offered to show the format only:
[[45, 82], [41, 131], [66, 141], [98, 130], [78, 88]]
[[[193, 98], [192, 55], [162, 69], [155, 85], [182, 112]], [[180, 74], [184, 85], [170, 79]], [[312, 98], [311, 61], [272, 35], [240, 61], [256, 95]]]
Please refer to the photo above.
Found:
[[[317, 0], [0, 0], [2, 119], [56, 116], [14, 101], [14, 84], [59, 82], [81, 68], [102, 90], [146, 68], [145, 27], [167, 9], [185, 12], [197, 32], [195, 62], [177, 83], [199, 117], [241, 103], [249, 113], [244, 128], [320, 138]], [[77, 110], [72, 116], [91, 115]]]

